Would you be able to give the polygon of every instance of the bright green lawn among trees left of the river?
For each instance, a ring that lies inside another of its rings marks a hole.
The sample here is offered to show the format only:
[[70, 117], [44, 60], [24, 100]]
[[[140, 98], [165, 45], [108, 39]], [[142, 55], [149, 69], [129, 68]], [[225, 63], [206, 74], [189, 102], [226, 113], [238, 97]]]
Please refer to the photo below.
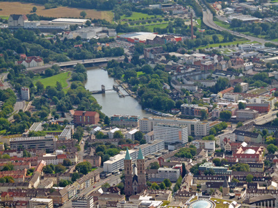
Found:
[[62, 84], [62, 87], [65, 88], [67, 87], [67, 79], [70, 78], [71, 72], [64, 72], [64, 73], [59, 73], [54, 76], [50, 76], [47, 78], [44, 78], [42, 76], [39, 76], [38, 78], [35, 78], [33, 80], [33, 84], [37, 83], [40, 81], [44, 87], [51, 86], [55, 87], [56, 82], [60, 82]]

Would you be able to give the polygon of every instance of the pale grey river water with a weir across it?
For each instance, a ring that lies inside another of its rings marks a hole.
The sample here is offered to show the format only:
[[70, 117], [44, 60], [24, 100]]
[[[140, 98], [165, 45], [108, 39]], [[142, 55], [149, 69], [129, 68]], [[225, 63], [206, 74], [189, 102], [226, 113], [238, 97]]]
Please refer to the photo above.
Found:
[[[104, 112], [107, 116], [112, 116], [113, 114], [139, 115], [140, 118], [152, 116], [152, 114], [142, 110], [138, 101], [131, 96], [120, 98], [117, 92], [112, 90], [113, 85], [117, 85], [117, 83], [115, 83], [114, 78], [108, 76], [107, 71], [104, 71], [104, 69], [87, 68], [87, 75], [86, 89], [90, 91], [101, 90], [101, 85], [105, 85], [106, 89], [111, 89], [111, 91], [106, 91], [105, 94], [93, 94], [99, 105], [102, 106], [101, 112]], [[122, 88], [120, 88], [120, 91], [123, 94], [127, 94]]]

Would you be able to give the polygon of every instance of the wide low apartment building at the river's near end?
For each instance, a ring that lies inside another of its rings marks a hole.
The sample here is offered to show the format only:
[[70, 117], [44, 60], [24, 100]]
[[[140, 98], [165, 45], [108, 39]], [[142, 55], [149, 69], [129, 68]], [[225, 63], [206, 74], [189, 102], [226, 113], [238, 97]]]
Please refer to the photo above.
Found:
[[113, 115], [110, 117], [111, 125], [121, 128], [134, 128], [138, 126], [140, 116]]

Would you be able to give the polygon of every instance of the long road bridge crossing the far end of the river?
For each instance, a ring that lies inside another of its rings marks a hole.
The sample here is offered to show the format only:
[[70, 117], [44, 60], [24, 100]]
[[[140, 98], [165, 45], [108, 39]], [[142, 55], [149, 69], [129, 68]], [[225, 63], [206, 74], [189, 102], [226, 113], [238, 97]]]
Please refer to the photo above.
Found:
[[76, 64], [93, 64], [93, 63], [101, 63], [101, 62], [108, 62], [110, 60], [117, 60], [123, 61], [124, 56], [117, 56], [117, 57], [108, 57], [108, 58], [94, 58], [94, 59], [85, 59], [85, 60], [73, 60], [69, 62], [60, 62], [60, 63], [53, 63], [53, 64], [44, 64], [41, 67], [29, 67], [26, 71], [35, 71], [35, 70], [43, 70], [52, 67], [54, 64], [58, 65], [59, 67], [70, 67]]

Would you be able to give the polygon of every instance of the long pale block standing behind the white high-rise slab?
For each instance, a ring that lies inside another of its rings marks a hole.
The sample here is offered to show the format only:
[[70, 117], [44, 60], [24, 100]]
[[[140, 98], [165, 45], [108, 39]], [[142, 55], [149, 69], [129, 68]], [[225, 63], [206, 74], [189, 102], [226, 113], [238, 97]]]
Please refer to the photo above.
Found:
[[163, 118], [163, 117], [149, 117], [140, 119], [140, 131], [148, 133], [154, 130], [154, 125], [157, 123], [186, 125], [188, 127], [188, 135], [196, 137], [204, 137], [208, 135], [210, 125], [208, 122], [202, 122], [199, 119], [179, 119], [179, 118]]

